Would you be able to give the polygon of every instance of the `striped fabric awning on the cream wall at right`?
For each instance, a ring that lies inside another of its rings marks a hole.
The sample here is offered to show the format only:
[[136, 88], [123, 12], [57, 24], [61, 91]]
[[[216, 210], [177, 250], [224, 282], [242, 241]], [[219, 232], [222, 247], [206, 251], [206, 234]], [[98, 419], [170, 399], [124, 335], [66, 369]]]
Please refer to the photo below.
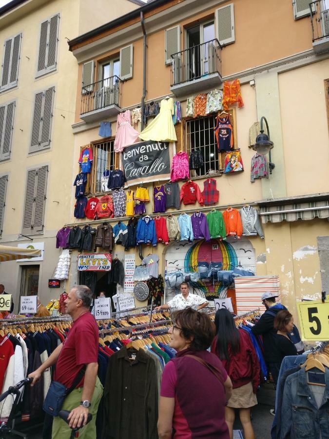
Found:
[[260, 206], [262, 222], [282, 222], [329, 218], [329, 200], [309, 201], [279, 206]]

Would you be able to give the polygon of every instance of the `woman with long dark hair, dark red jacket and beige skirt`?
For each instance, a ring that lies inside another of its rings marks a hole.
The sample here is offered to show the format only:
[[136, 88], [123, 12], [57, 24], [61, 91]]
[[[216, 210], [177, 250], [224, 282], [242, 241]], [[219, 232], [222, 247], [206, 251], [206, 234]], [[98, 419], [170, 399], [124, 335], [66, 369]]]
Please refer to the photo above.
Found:
[[245, 439], [254, 439], [250, 408], [257, 404], [256, 391], [260, 382], [260, 366], [249, 334], [235, 326], [232, 314], [219, 309], [215, 315], [217, 335], [211, 351], [221, 359], [232, 380], [233, 391], [225, 407], [225, 418], [233, 437], [235, 409], [239, 409]]

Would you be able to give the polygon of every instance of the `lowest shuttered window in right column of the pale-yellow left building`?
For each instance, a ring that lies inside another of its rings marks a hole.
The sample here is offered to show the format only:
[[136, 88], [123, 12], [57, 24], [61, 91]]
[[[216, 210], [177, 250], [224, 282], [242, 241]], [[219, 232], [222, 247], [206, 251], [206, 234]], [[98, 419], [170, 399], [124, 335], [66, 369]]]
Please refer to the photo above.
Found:
[[43, 232], [48, 166], [27, 172], [22, 233], [36, 235]]

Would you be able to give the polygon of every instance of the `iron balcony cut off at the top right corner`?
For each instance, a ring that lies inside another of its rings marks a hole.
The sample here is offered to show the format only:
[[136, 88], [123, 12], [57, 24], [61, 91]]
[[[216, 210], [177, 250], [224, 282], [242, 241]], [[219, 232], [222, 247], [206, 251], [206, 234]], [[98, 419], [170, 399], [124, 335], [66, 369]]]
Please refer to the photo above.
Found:
[[312, 1], [310, 14], [314, 52], [325, 52], [329, 50], [329, 1]]

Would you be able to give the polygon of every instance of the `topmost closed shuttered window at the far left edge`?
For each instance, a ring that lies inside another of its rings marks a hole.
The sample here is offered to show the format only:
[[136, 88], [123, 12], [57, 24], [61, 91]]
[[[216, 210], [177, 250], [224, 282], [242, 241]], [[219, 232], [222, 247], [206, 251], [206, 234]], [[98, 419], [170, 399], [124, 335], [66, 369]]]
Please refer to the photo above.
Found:
[[20, 42], [22, 34], [17, 34], [4, 42], [0, 90], [8, 90], [18, 83]]

